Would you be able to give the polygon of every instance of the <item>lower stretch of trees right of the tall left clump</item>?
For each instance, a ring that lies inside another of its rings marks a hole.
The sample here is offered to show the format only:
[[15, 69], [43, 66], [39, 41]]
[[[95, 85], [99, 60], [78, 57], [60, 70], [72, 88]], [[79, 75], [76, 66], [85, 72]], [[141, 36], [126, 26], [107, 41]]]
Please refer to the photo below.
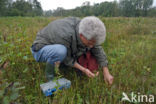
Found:
[[156, 7], [152, 7], [153, 0], [116, 0], [113, 2], [102, 2], [90, 5], [84, 2], [82, 6], [75, 9], [65, 10], [61, 7], [54, 11], [47, 11], [46, 15], [53, 16], [104, 16], [104, 17], [139, 17], [156, 16]]

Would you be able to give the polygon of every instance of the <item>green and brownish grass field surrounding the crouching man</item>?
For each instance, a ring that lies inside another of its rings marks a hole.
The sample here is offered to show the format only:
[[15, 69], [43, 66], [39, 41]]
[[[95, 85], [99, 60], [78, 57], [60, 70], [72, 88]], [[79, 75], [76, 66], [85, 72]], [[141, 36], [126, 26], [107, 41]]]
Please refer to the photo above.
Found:
[[100, 18], [113, 85], [105, 84], [102, 70], [89, 79], [65, 68], [57, 77], [71, 80], [71, 88], [50, 97], [40, 89], [45, 63], [35, 62], [30, 47], [36, 33], [57, 18], [0, 18], [0, 104], [129, 104], [121, 101], [123, 92], [156, 95], [156, 18]]

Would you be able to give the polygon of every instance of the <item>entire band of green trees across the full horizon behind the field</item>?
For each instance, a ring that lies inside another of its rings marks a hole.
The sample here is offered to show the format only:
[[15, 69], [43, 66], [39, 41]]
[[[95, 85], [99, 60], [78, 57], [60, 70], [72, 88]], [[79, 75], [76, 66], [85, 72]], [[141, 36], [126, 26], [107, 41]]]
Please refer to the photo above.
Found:
[[66, 10], [43, 11], [37, 0], [0, 0], [0, 16], [104, 16], [104, 17], [156, 17], [153, 0], [119, 0], [91, 5], [86, 1], [81, 6]]

